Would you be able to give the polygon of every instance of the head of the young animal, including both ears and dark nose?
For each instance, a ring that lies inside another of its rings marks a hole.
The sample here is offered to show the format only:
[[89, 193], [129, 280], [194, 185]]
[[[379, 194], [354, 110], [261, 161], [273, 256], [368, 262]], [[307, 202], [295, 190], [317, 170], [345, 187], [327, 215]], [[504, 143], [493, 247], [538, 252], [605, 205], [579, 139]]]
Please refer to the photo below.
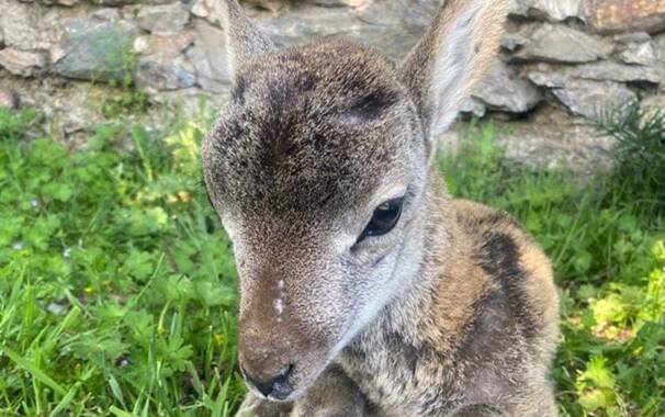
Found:
[[449, 3], [401, 68], [338, 41], [274, 50], [222, 4], [234, 86], [203, 167], [240, 275], [240, 365], [261, 396], [302, 394], [410, 284], [431, 138], [496, 48], [475, 41], [484, 0]]

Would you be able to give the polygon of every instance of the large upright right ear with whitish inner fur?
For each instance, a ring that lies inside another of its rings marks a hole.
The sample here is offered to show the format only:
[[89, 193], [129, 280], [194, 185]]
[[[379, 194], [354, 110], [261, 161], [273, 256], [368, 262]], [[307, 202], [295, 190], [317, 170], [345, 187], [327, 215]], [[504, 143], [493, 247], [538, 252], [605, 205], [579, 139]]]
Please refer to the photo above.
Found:
[[446, 0], [435, 22], [399, 68], [429, 140], [454, 121], [464, 99], [492, 65], [507, 0]]

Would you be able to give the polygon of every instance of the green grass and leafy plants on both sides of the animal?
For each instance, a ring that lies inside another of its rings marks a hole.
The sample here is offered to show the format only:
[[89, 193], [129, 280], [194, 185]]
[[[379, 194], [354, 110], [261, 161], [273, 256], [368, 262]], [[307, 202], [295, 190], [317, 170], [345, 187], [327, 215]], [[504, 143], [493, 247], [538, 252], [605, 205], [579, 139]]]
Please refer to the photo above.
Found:
[[[586, 185], [508, 161], [492, 125], [440, 158], [451, 192], [516, 215], [554, 262], [563, 416], [665, 415], [658, 117], [608, 115], [618, 165]], [[204, 126], [108, 124], [71, 153], [25, 138], [35, 123], [0, 110], [0, 415], [233, 415], [237, 277], [200, 181]]]

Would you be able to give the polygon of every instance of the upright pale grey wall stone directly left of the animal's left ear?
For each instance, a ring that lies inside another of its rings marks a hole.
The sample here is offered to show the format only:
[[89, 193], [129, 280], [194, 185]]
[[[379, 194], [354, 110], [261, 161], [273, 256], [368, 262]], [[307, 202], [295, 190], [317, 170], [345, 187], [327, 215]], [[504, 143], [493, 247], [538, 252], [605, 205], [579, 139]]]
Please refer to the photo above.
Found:
[[230, 78], [226, 63], [224, 32], [205, 21], [196, 21], [194, 45], [187, 52], [204, 90], [227, 92]]

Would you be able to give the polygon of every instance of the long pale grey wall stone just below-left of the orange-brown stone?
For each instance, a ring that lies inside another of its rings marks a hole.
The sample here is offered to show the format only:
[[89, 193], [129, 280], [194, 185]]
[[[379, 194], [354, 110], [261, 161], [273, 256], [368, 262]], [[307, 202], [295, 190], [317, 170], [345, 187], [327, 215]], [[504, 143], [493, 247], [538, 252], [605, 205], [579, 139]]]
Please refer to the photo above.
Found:
[[525, 34], [529, 42], [515, 57], [521, 60], [581, 64], [607, 57], [612, 45], [606, 40], [564, 25], [544, 23]]

